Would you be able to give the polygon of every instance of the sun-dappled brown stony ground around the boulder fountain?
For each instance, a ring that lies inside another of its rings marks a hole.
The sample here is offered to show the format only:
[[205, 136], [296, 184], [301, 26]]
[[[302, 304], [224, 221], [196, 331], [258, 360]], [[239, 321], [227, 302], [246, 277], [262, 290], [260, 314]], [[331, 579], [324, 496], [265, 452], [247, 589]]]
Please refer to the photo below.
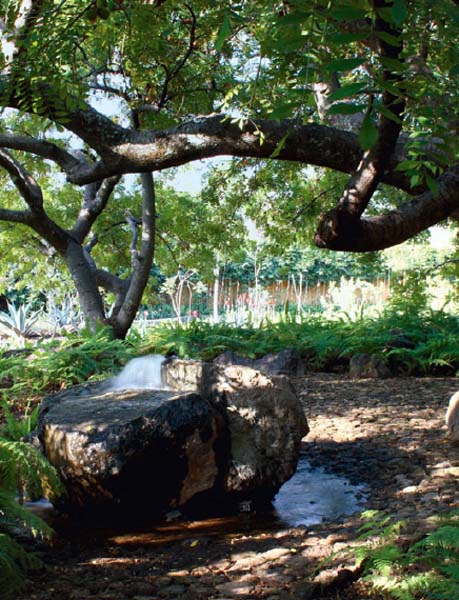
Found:
[[[350, 380], [312, 374], [296, 380], [310, 433], [302, 452], [314, 466], [366, 485], [367, 509], [408, 521], [422, 535], [429, 517], [458, 506], [459, 448], [444, 414], [454, 378]], [[44, 552], [46, 569], [17, 600], [364, 600], [369, 591], [344, 555], [359, 515], [312, 527], [263, 527], [253, 517], [166, 523], [103, 532], [72, 523]], [[255, 527], [255, 529], [254, 529]]]

